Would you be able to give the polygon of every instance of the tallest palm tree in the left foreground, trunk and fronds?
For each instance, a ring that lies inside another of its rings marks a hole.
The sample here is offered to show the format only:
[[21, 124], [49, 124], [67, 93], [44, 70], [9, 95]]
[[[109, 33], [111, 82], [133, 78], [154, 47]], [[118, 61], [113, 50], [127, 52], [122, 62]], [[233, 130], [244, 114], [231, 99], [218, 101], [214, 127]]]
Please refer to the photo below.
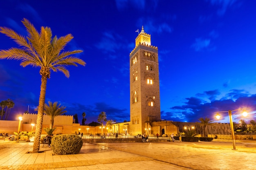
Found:
[[78, 57], [73, 57], [81, 50], [64, 51], [64, 47], [73, 39], [71, 34], [57, 38], [52, 38], [52, 30], [49, 27], [41, 27], [40, 33], [27, 19], [23, 19], [22, 24], [27, 29], [27, 37], [19, 35], [12, 29], [0, 27], [0, 32], [13, 39], [20, 48], [0, 50], [0, 59], [21, 60], [20, 65], [39, 67], [41, 77], [40, 96], [38, 113], [36, 120], [36, 134], [34, 139], [33, 152], [38, 152], [40, 148], [40, 137], [43, 124], [43, 111], [45, 105], [45, 93], [47, 79], [50, 78], [51, 71], [60, 71], [66, 77], [70, 76], [66, 66], [85, 66], [85, 62]]

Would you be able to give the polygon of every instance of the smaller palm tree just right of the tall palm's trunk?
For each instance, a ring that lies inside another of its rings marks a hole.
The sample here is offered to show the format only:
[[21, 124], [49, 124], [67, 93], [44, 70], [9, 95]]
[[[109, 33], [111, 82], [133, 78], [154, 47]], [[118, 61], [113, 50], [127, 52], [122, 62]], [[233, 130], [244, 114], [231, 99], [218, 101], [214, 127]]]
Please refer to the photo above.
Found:
[[56, 116], [59, 116], [59, 115], [63, 114], [63, 113], [66, 113], [67, 111], [64, 110], [66, 107], [61, 106], [61, 104], [58, 105], [58, 102], [54, 102], [52, 104], [52, 102], [49, 101], [48, 104], [49, 105], [47, 105], [45, 103], [44, 113], [46, 115], [48, 115], [49, 117], [51, 117], [51, 119], [50, 119], [50, 129], [52, 129], [53, 124], [54, 124], [54, 118]]

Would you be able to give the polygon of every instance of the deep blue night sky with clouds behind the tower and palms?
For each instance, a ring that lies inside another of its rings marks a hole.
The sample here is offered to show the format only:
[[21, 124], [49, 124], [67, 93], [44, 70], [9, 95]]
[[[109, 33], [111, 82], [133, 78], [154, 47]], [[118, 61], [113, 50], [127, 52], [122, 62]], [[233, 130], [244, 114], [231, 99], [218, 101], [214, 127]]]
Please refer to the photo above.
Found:
[[[8, 0], [0, 1], [0, 26], [26, 35], [22, 18], [53, 35], [71, 33], [65, 50], [83, 50], [86, 66], [68, 66], [70, 78], [52, 72], [46, 100], [97, 121], [130, 121], [129, 54], [144, 26], [159, 49], [161, 118], [214, 119], [214, 112], [249, 107], [256, 119], [256, 1], [254, 0]], [[17, 47], [0, 34], [0, 49]], [[15, 103], [9, 119], [36, 113], [40, 68], [0, 60], [0, 101]], [[218, 122], [229, 122], [226, 115]]]

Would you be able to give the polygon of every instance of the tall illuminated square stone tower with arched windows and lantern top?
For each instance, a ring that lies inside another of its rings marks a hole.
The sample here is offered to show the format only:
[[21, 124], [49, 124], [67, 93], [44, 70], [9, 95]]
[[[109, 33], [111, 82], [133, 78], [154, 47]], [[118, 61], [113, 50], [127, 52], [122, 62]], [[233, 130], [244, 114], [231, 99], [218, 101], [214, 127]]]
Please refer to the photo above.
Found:
[[130, 122], [132, 135], [151, 134], [150, 122], [160, 121], [158, 49], [141, 32], [130, 53]]

